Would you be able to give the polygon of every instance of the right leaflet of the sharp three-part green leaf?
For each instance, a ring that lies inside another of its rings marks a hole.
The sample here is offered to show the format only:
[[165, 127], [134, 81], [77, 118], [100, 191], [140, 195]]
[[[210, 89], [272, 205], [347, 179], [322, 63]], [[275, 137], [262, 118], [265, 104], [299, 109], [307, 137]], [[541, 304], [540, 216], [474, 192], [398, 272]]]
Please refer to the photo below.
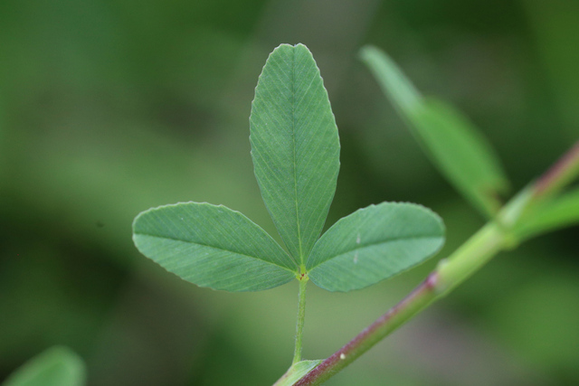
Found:
[[431, 257], [443, 243], [437, 214], [413, 203], [383, 202], [327, 230], [308, 258], [308, 276], [329, 291], [363, 288]]

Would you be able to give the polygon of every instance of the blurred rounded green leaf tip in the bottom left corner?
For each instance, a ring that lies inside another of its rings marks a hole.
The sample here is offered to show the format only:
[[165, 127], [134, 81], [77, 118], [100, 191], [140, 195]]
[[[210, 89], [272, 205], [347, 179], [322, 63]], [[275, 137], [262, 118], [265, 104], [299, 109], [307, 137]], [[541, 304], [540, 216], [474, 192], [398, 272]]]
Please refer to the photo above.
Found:
[[82, 386], [85, 372], [81, 357], [56, 346], [24, 363], [3, 386]]

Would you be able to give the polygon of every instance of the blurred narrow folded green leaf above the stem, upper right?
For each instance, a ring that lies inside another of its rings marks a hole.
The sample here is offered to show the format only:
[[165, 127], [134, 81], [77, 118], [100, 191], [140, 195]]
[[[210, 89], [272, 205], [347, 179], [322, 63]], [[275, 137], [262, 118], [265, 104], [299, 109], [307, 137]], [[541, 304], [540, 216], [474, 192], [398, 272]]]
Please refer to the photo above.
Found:
[[480, 212], [492, 217], [508, 179], [486, 138], [451, 105], [422, 98], [384, 52], [366, 46], [360, 56], [441, 173]]

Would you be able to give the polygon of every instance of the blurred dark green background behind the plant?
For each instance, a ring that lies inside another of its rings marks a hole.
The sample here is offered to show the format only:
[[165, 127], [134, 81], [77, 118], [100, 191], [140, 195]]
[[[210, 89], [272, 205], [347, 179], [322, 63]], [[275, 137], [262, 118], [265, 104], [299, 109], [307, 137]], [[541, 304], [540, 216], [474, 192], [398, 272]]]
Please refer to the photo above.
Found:
[[[303, 42], [342, 143], [328, 224], [382, 201], [483, 223], [422, 154], [356, 52], [373, 43], [496, 146], [515, 189], [579, 137], [572, 0], [0, 1], [0, 380], [52, 344], [90, 385], [269, 385], [289, 366], [297, 284], [229, 294], [138, 254], [131, 221], [223, 203], [274, 232], [249, 114], [267, 55]], [[577, 227], [504, 253], [328, 385], [579, 384]], [[276, 236], [277, 237], [277, 236]], [[437, 259], [375, 287], [310, 286], [304, 355], [333, 353]]]

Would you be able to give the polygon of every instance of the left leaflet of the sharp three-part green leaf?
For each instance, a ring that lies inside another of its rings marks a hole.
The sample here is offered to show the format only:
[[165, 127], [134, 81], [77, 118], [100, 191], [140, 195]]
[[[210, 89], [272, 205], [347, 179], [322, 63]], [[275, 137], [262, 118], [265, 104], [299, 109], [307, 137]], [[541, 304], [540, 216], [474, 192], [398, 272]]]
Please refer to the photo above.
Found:
[[185, 202], [138, 215], [138, 250], [200, 287], [259, 291], [295, 278], [298, 266], [271, 236], [223, 205]]

